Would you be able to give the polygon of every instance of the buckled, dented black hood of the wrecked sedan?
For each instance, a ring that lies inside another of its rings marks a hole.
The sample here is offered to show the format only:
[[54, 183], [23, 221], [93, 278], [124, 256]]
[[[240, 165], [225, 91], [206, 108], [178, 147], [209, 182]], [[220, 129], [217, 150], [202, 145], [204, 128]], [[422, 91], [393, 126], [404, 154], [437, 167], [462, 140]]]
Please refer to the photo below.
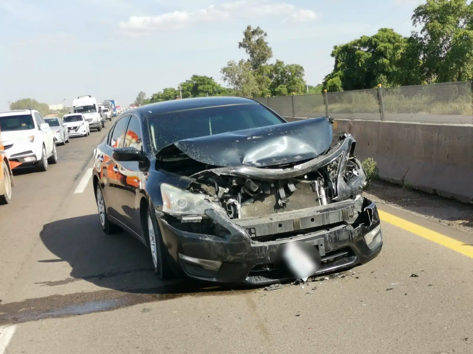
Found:
[[193, 160], [221, 167], [267, 167], [313, 159], [332, 143], [328, 118], [185, 139], [158, 152], [158, 160], [184, 153]]

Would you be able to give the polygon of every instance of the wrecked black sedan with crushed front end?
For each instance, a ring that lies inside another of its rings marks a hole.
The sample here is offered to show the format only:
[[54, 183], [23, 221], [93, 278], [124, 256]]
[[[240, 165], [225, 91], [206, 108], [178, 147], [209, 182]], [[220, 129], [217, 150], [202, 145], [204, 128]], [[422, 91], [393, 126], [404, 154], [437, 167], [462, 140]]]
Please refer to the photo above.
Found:
[[245, 98], [141, 106], [94, 153], [100, 222], [146, 245], [159, 278], [263, 285], [350, 268], [383, 244], [354, 147], [329, 118], [287, 122]]

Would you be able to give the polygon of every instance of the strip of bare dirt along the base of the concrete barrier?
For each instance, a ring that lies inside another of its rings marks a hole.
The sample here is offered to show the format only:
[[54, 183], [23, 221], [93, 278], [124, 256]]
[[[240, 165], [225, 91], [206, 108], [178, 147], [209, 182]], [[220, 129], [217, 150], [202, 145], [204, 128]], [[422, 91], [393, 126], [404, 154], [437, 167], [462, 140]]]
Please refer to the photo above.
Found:
[[457, 202], [381, 180], [374, 180], [363, 194], [374, 202], [386, 204], [473, 235], [473, 204]]

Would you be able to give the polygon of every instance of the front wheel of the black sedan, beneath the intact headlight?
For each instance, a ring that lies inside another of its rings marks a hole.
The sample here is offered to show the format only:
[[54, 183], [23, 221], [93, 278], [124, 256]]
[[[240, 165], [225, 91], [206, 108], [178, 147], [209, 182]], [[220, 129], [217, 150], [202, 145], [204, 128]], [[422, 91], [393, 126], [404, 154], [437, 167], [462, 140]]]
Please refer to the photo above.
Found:
[[147, 238], [146, 242], [149, 246], [156, 275], [160, 280], [175, 278], [175, 275], [167, 263], [166, 251], [164, 248], [163, 237], [159, 230], [158, 221], [156, 220], [154, 211], [151, 209], [148, 209], [143, 226], [144, 235]]

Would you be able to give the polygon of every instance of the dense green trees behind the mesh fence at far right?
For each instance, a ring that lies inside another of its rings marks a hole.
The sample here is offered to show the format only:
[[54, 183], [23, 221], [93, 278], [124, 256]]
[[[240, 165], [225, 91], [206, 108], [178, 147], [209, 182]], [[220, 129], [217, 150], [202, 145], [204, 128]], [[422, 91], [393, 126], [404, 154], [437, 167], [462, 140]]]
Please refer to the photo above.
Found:
[[415, 8], [420, 32], [403, 37], [381, 28], [373, 36], [334, 46], [328, 91], [356, 90], [473, 78], [473, 2], [427, 0]]

